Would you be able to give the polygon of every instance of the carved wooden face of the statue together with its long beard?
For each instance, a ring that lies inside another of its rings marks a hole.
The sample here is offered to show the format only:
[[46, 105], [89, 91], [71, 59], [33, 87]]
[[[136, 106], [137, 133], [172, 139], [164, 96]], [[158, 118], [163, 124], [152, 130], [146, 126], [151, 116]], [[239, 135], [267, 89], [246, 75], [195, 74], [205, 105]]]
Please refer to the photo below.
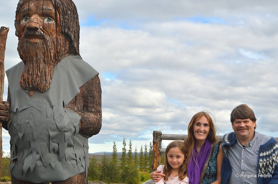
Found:
[[61, 34], [60, 16], [50, 0], [27, 1], [18, 16], [18, 53], [25, 64], [20, 86], [46, 91], [54, 67], [68, 54], [69, 39]]

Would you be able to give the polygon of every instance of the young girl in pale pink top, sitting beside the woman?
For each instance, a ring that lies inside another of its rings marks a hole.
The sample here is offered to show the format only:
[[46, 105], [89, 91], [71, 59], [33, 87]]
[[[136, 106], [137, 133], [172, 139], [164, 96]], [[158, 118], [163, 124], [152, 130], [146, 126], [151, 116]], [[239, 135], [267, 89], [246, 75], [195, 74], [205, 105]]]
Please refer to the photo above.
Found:
[[165, 165], [157, 167], [157, 171], [165, 174], [156, 184], [188, 184], [186, 147], [182, 141], [171, 142], [165, 151]]

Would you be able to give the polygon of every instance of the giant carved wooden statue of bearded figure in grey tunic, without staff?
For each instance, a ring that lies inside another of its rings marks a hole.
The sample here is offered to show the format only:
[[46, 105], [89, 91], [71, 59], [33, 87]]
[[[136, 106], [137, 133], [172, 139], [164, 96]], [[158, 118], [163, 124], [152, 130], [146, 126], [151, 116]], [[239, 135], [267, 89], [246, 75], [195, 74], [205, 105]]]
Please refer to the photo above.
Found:
[[0, 104], [11, 136], [12, 183], [87, 183], [88, 137], [101, 128], [98, 72], [79, 54], [72, 0], [20, 0], [15, 16], [22, 62], [10, 68]]

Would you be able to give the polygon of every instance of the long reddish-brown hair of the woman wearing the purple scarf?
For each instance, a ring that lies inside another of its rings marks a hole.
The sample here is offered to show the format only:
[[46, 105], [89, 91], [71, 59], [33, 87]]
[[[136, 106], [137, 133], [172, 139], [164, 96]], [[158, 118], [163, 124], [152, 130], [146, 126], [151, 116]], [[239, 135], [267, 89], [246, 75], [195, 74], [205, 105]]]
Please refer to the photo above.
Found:
[[207, 112], [203, 112], [203, 111], [196, 113], [191, 118], [190, 123], [188, 125], [188, 133], [187, 133], [188, 137], [184, 139], [185, 147], [188, 150], [187, 159], [186, 159], [187, 160], [186, 165], [188, 165], [190, 157], [191, 157], [191, 154], [192, 154], [192, 151], [193, 151], [193, 148], [196, 145], [196, 138], [195, 138], [194, 132], [193, 132], [193, 125], [196, 123], [196, 121], [198, 119], [200, 119], [203, 116], [205, 116], [207, 118], [208, 126], [209, 126], [209, 133], [207, 135], [207, 139], [211, 143], [214, 143], [216, 140], [218, 140], [216, 135], [215, 135], [216, 134], [216, 128], [215, 128], [215, 125], [214, 125], [213, 120], [210, 117], [210, 115]]

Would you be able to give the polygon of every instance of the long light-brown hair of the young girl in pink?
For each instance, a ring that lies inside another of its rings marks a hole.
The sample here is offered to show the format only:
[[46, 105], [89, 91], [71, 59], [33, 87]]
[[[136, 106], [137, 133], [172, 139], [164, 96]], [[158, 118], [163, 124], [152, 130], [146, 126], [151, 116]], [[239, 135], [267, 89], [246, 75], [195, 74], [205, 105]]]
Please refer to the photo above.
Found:
[[184, 159], [185, 159], [182, 165], [179, 167], [179, 180], [182, 181], [187, 176], [187, 163], [188, 163], [188, 161], [186, 160], [187, 149], [182, 141], [173, 141], [167, 146], [165, 150], [165, 164], [163, 169], [163, 174], [165, 174], [164, 176], [165, 181], [168, 181], [168, 178], [171, 175], [171, 171], [172, 171], [172, 167], [170, 166], [167, 159], [167, 154], [171, 148], [176, 148], [176, 147], [179, 148], [179, 150], [184, 155]]

